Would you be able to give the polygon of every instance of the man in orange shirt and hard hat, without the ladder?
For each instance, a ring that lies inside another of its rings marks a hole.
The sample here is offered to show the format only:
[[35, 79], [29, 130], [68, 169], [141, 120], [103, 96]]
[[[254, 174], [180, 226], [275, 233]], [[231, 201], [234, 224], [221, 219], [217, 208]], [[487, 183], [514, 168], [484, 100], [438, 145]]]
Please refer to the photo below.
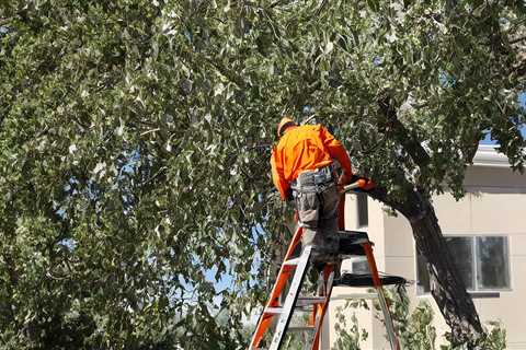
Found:
[[[321, 125], [298, 126], [288, 117], [277, 126], [279, 142], [271, 158], [272, 178], [282, 199], [295, 200], [301, 243], [312, 245], [317, 260], [339, 253], [338, 186], [352, 178], [351, 160], [342, 143]], [[333, 160], [343, 174], [335, 179]]]

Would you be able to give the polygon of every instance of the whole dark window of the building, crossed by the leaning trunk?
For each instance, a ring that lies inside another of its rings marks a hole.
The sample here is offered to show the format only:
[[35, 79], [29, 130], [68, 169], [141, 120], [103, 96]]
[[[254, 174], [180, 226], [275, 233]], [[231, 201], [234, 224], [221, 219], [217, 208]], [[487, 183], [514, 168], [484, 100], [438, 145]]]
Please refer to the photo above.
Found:
[[[468, 291], [510, 289], [508, 245], [505, 236], [446, 236], [453, 261]], [[416, 255], [416, 292], [428, 293], [427, 261]]]

